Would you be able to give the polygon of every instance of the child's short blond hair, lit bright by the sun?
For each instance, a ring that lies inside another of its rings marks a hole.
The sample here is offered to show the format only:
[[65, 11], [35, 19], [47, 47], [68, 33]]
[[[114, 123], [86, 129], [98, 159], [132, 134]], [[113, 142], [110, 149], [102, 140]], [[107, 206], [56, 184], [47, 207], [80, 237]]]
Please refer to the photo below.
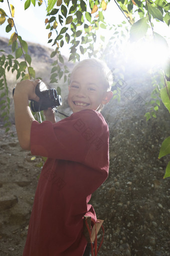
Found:
[[[83, 67], [95, 69], [98, 72], [98, 75], [101, 77], [101, 82], [104, 86], [104, 89], [106, 91], [110, 91], [111, 85], [113, 83], [112, 73], [111, 73], [111, 70], [107, 67], [107, 65], [103, 61], [100, 61], [97, 59], [82, 60], [74, 66], [71, 72], [71, 76], [74, 74], [74, 72], [78, 68], [83, 68]], [[71, 80], [71, 76], [70, 76], [70, 80]]]

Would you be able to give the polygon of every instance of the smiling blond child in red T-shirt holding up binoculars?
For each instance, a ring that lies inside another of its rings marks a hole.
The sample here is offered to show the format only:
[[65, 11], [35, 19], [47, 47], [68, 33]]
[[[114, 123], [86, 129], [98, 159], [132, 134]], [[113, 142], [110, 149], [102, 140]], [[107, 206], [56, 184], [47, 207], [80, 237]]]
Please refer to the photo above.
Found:
[[21, 81], [13, 99], [22, 149], [47, 157], [35, 193], [23, 256], [82, 256], [87, 244], [83, 216], [96, 221], [88, 204], [108, 175], [108, 126], [99, 110], [112, 97], [108, 71], [95, 59], [73, 69], [68, 104], [73, 113], [57, 123], [35, 121], [28, 100], [38, 101], [39, 80]]

